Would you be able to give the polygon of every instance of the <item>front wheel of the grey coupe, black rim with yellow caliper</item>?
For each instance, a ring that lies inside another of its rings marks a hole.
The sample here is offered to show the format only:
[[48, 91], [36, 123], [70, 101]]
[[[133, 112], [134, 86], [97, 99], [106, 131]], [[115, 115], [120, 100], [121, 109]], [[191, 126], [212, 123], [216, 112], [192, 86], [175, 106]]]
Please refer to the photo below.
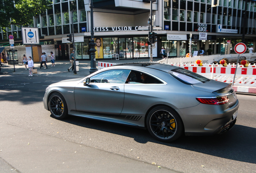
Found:
[[50, 96], [48, 105], [54, 118], [64, 119], [68, 116], [68, 107], [66, 101], [59, 93], [53, 93]]

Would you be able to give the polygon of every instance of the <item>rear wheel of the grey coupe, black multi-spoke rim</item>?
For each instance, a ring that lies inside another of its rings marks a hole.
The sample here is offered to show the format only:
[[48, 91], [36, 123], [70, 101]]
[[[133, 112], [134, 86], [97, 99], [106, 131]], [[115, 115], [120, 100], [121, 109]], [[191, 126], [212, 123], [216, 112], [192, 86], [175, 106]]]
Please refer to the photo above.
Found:
[[155, 107], [149, 112], [147, 128], [155, 139], [162, 142], [171, 142], [178, 139], [184, 129], [180, 116], [171, 108], [165, 106]]

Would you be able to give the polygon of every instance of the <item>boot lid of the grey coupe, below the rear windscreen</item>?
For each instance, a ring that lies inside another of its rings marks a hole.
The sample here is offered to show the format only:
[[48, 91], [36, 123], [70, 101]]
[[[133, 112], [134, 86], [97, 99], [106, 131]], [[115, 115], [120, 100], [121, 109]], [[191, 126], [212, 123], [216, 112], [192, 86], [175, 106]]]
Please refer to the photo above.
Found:
[[[205, 82], [205, 83], [192, 85], [192, 87], [194, 89], [197, 89], [197, 90], [200, 90], [200, 91], [206, 91], [206, 92], [209, 92], [209, 93], [215, 93], [217, 95], [230, 93], [230, 90], [233, 91], [232, 87], [228, 87], [228, 86], [229, 86], [229, 83], [219, 82], [219, 81], [216, 81], [216, 80], [210, 80], [210, 81]], [[228, 87], [228, 90], [227, 89], [223, 90], [227, 87]], [[219, 93], [217, 91], [222, 91], [222, 92]]]

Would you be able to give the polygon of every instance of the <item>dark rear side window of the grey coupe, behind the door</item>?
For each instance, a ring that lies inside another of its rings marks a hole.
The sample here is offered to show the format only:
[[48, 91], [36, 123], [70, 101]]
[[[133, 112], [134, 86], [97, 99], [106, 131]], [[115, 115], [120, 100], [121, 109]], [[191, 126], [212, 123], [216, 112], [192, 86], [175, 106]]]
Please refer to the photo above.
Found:
[[136, 83], [161, 84], [163, 83], [159, 81], [157, 78], [154, 78], [146, 73], [138, 72], [135, 70], [132, 70], [130, 72], [129, 77], [130, 77], [130, 82], [128, 82], [129, 84], [136, 84]]

